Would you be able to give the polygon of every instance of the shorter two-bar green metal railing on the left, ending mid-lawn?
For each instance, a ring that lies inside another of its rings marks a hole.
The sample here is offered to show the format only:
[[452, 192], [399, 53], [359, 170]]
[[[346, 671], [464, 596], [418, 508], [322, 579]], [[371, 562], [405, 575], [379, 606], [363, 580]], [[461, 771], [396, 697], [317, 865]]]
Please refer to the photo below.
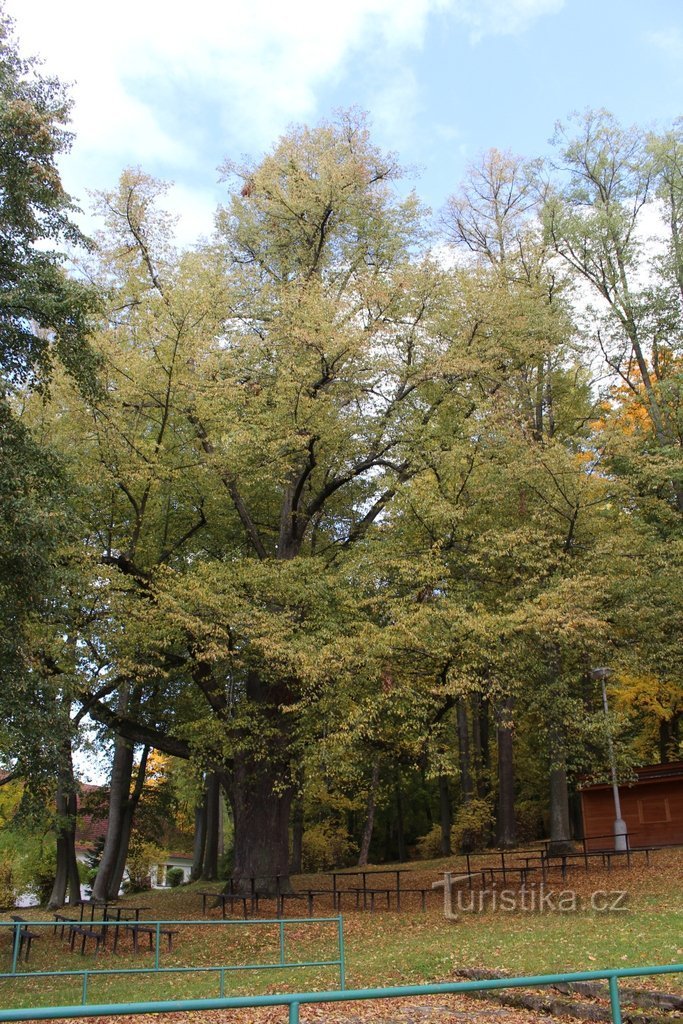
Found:
[[[81, 922], [75, 922], [77, 925], [81, 925]], [[219, 976], [219, 991], [220, 998], [224, 997], [225, 994], [225, 974], [230, 971], [282, 971], [284, 969], [295, 969], [295, 968], [310, 968], [310, 967], [336, 967], [339, 969], [339, 987], [343, 990], [345, 986], [345, 974], [344, 974], [344, 930], [342, 925], [342, 916], [339, 914], [336, 918], [288, 918], [287, 920], [275, 920], [263, 919], [263, 920], [249, 920], [249, 921], [207, 921], [206, 919], [202, 921], [141, 921], [141, 922], [119, 922], [119, 921], [95, 921], [95, 922], [83, 922], [83, 925], [87, 928], [93, 928], [95, 930], [100, 928], [120, 928], [125, 929], [127, 925], [135, 926], [140, 925], [144, 928], [154, 928], [156, 932], [156, 941], [154, 948], [155, 963], [154, 967], [151, 968], [95, 968], [95, 969], [85, 969], [78, 971], [19, 971], [18, 959], [19, 951], [22, 947], [22, 934], [20, 930], [23, 928], [29, 928], [33, 931], [37, 928], [52, 928], [56, 930], [62, 927], [62, 922], [54, 921], [27, 921], [25, 923], [15, 924], [14, 922], [0, 921], [0, 928], [10, 928], [14, 929], [13, 942], [12, 942], [12, 959], [11, 969], [9, 971], [0, 972], [0, 980], [3, 979], [25, 979], [25, 978], [81, 978], [81, 1005], [85, 1007], [88, 998], [88, 982], [91, 978], [101, 978], [110, 975], [144, 975], [144, 974], [217, 974]], [[220, 965], [216, 967], [162, 967], [160, 962], [160, 940], [163, 938], [164, 930], [169, 929], [173, 926], [201, 926], [202, 928], [251, 928], [255, 925], [266, 926], [268, 928], [278, 929], [279, 946], [280, 946], [280, 959], [273, 961], [269, 964], [236, 964], [236, 965]], [[318, 961], [288, 961], [286, 941], [285, 941], [285, 927], [290, 925], [336, 925], [337, 928], [337, 952], [338, 955], [335, 959], [318, 959]], [[69, 928], [68, 923], [63, 923], [65, 928]], [[18, 1013], [20, 1011], [4, 1011], [0, 1010], [0, 1015], [4, 1013]], [[28, 1011], [26, 1011], [28, 1013]], [[18, 1020], [32, 1020], [35, 1018], [37, 1011], [32, 1010], [31, 1015], [27, 1018], [17, 1018]], [[86, 1015], [87, 1016], [87, 1015]], [[9, 1020], [11, 1018], [4, 1018], [0, 1016], [1, 1020]]]

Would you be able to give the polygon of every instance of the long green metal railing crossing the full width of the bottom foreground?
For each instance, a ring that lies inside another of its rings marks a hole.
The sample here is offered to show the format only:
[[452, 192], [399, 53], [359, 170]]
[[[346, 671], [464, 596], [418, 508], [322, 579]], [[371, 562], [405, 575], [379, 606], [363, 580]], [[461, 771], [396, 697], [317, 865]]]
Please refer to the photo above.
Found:
[[[306, 919], [307, 920], [307, 919]], [[543, 974], [524, 978], [497, 978], [488, 981], [444, 982], [438, 985], [403, 985], [391, 988], [359, 988], [330, 992], [293, 992], [280, 995], [244, 995], [218, 999], [173, 999], [157, 1002], [119, 1002], [89, 1007], [44, 1007], [33, 1010], [0, 1010], [0, 1021], [55, 1020], [59, 1017], [113, 1017], [117, 1014], [190, 1013], [198, 1010], [243, 1010], [253, 1007], [289, 1007], [289, 1024], [299, 1024], [299, 1009], [309, 1002], [351, 1002], [356, 999], [390, 999], [404, 996], [442, 995], [499, 988], [527, 988], [573, 981], [606, 980], [612, 1024], [622, 1024], [620, 978], [643, 978], [683, 972], [683, 964], [661, 967], [620, 968], [607, 971], [580, 971], [573, 974]]]

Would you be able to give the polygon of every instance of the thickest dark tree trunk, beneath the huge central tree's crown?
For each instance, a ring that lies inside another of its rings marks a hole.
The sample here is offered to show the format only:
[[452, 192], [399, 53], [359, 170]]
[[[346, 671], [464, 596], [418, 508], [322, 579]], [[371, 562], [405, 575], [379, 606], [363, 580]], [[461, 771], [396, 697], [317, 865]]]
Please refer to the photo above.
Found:
[[252, 884], [262, 895], [285, 892], [289, 881], [289, 824], [294, 787], [284, 785], [278, 768], [238, 752], [229, 779], [234, 816], [236, 892]]

